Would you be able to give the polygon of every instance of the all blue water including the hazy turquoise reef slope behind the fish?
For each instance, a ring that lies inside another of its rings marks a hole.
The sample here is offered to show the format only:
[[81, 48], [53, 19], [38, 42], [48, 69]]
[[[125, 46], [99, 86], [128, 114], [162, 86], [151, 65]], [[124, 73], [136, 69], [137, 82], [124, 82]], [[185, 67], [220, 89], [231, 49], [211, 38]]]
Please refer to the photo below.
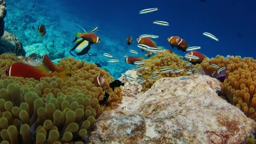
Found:
[[[158, 11], [139, 14], [145, 8]], [[70, 0], [8, 0], [5, 30], [12, 32], [23, 43], [31, 46], [44, 44], [50, 51], [51, 59], [71, 56], [76, 32], [82, 32], [77, 23], [86, 31], [99, 27], [96, 34], [101, 42], [91, 46], [91, 56], [77, 56], [87, 62], [96, 62], [118, 78], [121, 73], [134, 65], [124, 62], [123, 55], [141, 57], [136, 38], [142, 34], [159, 35], [154, 39], [157, 46], [170, 49], [184, 56], [186, 52], [171, 48], [167, 38], [177, 35], [189, 46], [201, 46], [199, 52], [209, 58], [216, 55], [240, 55], [256, 58], [256, 1], [254, 0], [140, 0], [140, 1], [70, 1]], [[154, 20], [169, 22], [169, 26], [153, 24]], [[46, 26], [46, 35], [38, 37], [37, 26]], [[210, 32], [219, 38], [215, 41], [203, 35]], [[132, 44], [126, 38], [133, 37]], [[138, 55], [130, 53], [133, 49]], [[58, 50], [59, 52], [56, 52]], [[106, 52], [120, 59], [109, 63], [102, 54]], [[56, 55], [56, 53], [60, 53]]]

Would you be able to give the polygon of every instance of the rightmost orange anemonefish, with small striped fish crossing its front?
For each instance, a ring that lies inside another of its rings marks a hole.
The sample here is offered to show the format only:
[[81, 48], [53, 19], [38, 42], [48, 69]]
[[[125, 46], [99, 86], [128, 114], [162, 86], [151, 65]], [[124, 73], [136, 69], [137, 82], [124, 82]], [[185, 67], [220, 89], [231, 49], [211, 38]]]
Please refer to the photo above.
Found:
[[[186, 57], [187, 55], [187, 57]], [[185, 55], [185, 58], [187, 59], [187, 61], [191, 62], [192, 64], [201, 64], [201, 62], [204, 61], [204, 58], [207, 58], [206, 55], [197, 52], [197, 51], [192, 51], [192, 52], [188, 52]], [[195, 56], [195, 58], [193, 58]]]

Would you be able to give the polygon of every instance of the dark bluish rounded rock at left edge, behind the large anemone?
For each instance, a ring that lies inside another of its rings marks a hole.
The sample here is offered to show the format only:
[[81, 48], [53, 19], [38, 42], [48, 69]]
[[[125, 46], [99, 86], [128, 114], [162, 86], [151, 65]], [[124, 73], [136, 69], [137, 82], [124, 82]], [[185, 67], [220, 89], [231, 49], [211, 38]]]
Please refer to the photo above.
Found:
[[7, 31], [0, 38], [0, 55], [2, 53], [15, 53], [17, 56], [26, 54], [19, 39]]

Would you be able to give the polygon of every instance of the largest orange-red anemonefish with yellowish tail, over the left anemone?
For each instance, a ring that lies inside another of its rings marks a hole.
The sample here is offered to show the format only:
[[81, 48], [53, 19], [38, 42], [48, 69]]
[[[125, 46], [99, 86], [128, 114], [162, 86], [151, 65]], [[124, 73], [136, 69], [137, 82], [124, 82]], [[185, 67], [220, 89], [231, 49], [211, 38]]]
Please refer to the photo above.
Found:
[[62, 80], [67, 80], [69, 79], [69, 70], [64, 70], [61, 71], [60, 73], [56, 74], [48, 74], [45, 73], [46, 70], [42, 69], [47, 69], [45, 65], [40, 65], [38, 67], [34, 67], [31, 65], [26, 65], [23, 64], [22, 62], [16, 62], [10, 67], [5, 70], [5, 75], [6, 76], [15, 76], [15, 77], [28, 77], [28, 78], [34, 78], [35, 80], [40, 80], [41, 77], [53, 77], [53, 76], [58, 76]]

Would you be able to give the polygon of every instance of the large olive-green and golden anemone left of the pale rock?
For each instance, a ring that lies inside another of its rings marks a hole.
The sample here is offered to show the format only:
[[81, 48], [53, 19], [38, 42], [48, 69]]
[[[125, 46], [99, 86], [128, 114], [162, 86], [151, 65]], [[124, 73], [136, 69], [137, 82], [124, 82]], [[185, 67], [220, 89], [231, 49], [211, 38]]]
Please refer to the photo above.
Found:
[[[6, 53], [0, 58], [1, 141], [85, 142], [90, 126], [103, 110], [114, 108], [123, 98], [121, 88], [114, 91], [109, 88], [113, 81], [109, 73], [95, 64], [62, 59], [59, 66], [69, 67], [72, 72], [69, 80], [63, 82], [54, 76], [41, 77], [38, 81], [5, 76], [5, 68], [20, 60]], [[95, 76], [104, 77], [103, 86], [94, 85]], [[99, 100], [103, 100], [105, 92], [109, 98], [100, 105]]]

